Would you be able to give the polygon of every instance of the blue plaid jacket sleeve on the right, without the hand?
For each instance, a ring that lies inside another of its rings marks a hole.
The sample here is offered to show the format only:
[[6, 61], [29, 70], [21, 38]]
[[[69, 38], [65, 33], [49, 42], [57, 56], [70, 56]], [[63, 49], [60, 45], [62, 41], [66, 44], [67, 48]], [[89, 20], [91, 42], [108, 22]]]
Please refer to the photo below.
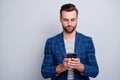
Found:
[[96, 77], [99, 73], [95, 57], [95, 48], [91, 38], [88, 40], [88, 60], [87, 63], [84, 64], [84, 69], [83, 75], [86, 76]]

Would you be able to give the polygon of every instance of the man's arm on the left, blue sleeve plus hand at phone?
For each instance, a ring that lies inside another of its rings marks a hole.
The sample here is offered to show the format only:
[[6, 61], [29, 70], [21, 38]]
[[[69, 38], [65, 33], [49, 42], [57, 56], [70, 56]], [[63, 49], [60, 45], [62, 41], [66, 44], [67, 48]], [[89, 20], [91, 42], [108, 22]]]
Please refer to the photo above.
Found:
[[64, 58], [63, 63], [55, 65], [52, 51], [52, 41], [52, 39], [48, 39], [45, 45], [44, 60], [41, 67], [41, 73], [44, 78], [56, 77], [57, 74], [68, 70], [68, 61], [71, 60]]

